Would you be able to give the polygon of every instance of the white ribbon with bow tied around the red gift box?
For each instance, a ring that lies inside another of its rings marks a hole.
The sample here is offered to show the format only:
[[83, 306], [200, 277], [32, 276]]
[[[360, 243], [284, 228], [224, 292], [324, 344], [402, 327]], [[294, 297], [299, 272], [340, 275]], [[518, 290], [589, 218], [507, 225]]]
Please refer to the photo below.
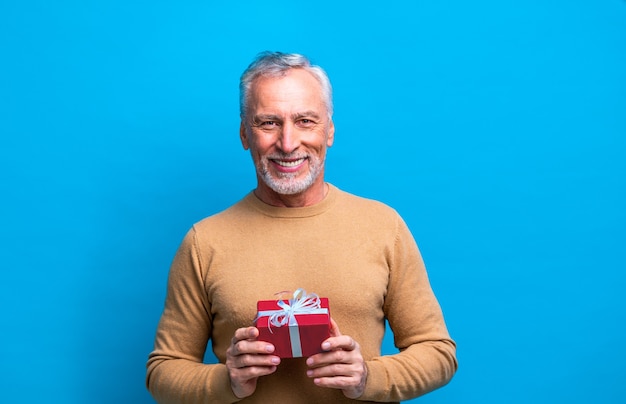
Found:
[[263, 310], [257, 313], [256, 320], [261, 317], [269, 317], [267, 328], [272, 331], [272, 326], [289, 326], [289, 337], [291, 339], [291, 353], [294, 358], [302, 356], [300, 343], [300, 330], [296, 314], [328, 314], [328, 309], [322, 308], [320, 298], [315, 293], [307, 294], [302, 288], [293, 293], [293, 298], [288, 302], [278, 301], [280, 310]]

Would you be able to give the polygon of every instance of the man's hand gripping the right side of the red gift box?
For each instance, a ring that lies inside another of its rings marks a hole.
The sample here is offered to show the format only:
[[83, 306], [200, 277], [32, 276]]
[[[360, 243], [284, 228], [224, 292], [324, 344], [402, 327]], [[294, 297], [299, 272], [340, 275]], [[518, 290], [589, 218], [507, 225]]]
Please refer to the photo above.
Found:
[[358, 398], [365, 390], [367, 367], [361, 348], [352, 337], [341, 335], [335, 320], [331, 319], [330, 338], [322, 343], [326, 352], [307, 359], [307, 376], [317, 386], [341, 389], [348, 398]]

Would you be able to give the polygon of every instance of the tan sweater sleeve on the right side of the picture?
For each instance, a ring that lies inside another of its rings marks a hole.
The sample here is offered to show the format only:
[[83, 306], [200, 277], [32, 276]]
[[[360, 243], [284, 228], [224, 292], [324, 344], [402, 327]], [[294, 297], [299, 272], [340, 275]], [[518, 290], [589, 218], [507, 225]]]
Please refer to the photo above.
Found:
[[457, 369], [456, 345], [417, 245], [399, 216], [396, 234], [388, 257], [384, 311], [400, 352], [367, 361], [368, 378], [361, 400], [415, 398], [447, 384]]

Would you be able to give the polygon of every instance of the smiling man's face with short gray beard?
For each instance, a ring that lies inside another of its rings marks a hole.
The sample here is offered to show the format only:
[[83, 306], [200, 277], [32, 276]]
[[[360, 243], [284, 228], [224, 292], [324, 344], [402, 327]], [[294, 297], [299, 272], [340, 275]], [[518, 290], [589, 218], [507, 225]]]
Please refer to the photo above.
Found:
[[299, 196], [312, 203], [323, 198], [334, 125], [321, 86], [309, 72], [291, 69], [283, 77], [256, 79], [240, 136], [252, 154], [261, 199]]

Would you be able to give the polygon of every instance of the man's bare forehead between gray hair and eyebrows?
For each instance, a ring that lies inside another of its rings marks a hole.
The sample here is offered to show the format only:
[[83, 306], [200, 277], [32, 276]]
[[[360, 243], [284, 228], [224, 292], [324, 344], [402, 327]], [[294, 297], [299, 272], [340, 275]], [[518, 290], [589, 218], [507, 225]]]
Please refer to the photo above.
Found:
[[279, 77], [261, 76], [256, 78], [250, 87], [248, 109], [255, 112], [271, 109], [279, 112], [293, 112], [305, 108], [326, 110], [322, 86], [319, 81], [306, 70], [291, 69]]

